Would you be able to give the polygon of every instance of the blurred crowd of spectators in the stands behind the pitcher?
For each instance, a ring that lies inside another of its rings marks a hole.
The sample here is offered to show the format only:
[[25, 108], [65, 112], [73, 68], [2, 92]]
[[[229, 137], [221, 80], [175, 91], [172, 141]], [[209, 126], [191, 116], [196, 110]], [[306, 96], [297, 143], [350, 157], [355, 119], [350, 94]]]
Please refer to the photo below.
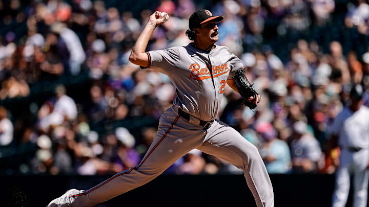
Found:
[[[367, 2], [345, 4], [345, 27], [369, 34]], [[153, 5], [171, 18], [156, 28], [147, 50], [187, 45], [185, 31], [189, 16], [198, 9], [195, 2], [161, 0]], [[351, 85], [369, 89], [369, 52], [343, 51], [342, 42], [332, 40], [324, 53], [317, 41], [300, 39], [278, 49], [288, 50], [284, 60], [263, 38], [267, 19], [278, 22], [277, 36], [329, 24], [335, 1], [222, 0], [211, 5], [214, 15], [225, 17], [218, 25], [217, 44], [240, 57], [262, 97], [252, 111], [226, 87], [219, 119], [257, 146], [269, 173], [334, 173], [339, 150], [329, 147], [330, 127], [347, 104]], [[98, 133], [93, 125], [103, 120], [158, 120], [171, 106], [175, 88], [169, 78], [128, 61], [154, 10], [134, 16], [108, 8], [104, 1], [0, 1], [1, 25], [27, 28], [27, 34], [18, 28], [0, 38], [0, 100], [28, 97], [38, 82], [77, 77], [85, 70], [91, 83], [85, 103], [68, 96], [71, 91], [65, 85], [55, 85], [45, 103], [30, 106], [36, 118], [27, 127], [16, 126], [11, 118], [16, 109], [0, 106], [0, 163], [12, 154], [9, 151], [27, 152], [16, 168], [5, 166], [6, 173], [94, 175], [117, 173], [140, 162], [155, 139], [155, 127], [142, 126], [137, 133], [118, 126]], [[242, 171], [195, 149], [165, 173]]]

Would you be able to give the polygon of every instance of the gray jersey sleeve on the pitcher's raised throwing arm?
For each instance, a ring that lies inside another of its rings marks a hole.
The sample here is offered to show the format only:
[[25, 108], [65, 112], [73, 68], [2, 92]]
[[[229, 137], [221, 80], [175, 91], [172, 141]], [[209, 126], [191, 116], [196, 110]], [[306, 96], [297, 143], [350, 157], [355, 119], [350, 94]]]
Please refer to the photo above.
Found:
[[146, 52], [146, 54], [149, 58], [149, 65], [141, 68], [156, 69], [165, 74], [171, 74], [173, 69], [178, 67], [180, 62], [178, 47], [149, 51]]

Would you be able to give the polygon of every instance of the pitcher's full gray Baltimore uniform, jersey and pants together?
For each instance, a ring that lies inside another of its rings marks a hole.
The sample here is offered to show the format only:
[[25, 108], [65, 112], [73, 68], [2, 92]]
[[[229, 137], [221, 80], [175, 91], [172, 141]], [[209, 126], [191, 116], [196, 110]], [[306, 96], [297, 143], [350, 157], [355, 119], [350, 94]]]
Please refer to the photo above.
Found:
[[[258, 149], [218, 120], [206, 128], [194, 121], [216, 118], [227, 79], [243, 66], [239, 58], [219, 45], [210, 53], [189, 44], [147, 54], [148, 68], [167, 74], [177, 88], [174, 105], [161, 115], [156, 138], [141, 162], [97, 186], [74, 193], [70, 196], [73, 206], [90, 207], [142, 186], [187, 152], [198, 149], [243, 170], [256, 205], [273, 207], [272, 183]], [[179, 108], [191, 118], [179, 116]]]

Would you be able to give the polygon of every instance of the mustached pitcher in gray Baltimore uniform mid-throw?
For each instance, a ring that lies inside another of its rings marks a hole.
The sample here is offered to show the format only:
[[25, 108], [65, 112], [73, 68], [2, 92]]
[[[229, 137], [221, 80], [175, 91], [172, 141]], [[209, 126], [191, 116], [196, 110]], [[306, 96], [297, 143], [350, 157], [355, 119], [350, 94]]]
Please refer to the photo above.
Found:
[[144, 70], [168, 75], [176, 87], [173, 106], [160, 117], [156, 139], [141, 162], [87, 190], [69, 190], [48, 206], [93, 206], [151, 181], [192, 149], [227, 160], [244, 171], [258, 207], [274, 206], [272, 183], [257, 148], [217, 117], [226, 83], [240, 93], [251, 109], [259, 103], [243, 73], [243, 64], [227, 47], [216, 45], [217, 22], [209, 10], [198, 10], [189, 19], [185, 47], [145, 52], [154, 29], [168, 14], [156, 11], [139, 35], [129, 60]]

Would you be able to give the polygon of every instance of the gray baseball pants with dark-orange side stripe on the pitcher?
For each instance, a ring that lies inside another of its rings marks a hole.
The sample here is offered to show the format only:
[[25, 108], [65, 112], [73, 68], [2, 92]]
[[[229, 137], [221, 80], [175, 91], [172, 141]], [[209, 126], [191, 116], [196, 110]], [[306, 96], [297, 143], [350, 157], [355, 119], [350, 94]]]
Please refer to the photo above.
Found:
[[176, 106], [167, 109], [160, 117], [156, 138], [141, 162], [72, 196], [73, 206], [90, 207], [145, 185], [195, 148], [243, 170], [256, 205], [274, 206], [272, 183], [257, 148], [220, 121], [215, 120], [209, 129], [195, 122], [193, 117], [189, 122], [178, 116]]

